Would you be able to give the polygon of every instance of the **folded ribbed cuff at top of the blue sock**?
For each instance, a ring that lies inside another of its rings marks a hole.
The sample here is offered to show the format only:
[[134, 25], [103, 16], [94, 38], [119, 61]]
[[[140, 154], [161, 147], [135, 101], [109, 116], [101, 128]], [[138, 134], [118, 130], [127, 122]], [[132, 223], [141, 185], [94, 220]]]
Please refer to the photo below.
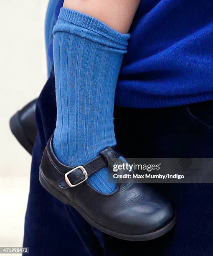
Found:
[[122, 34], [110, 28], [101, 20], [68, 8], [61, 8], [53, 35], [56, 32], [74, 33], [77, 36], [106, 46], [126, 50], [129, 34]]

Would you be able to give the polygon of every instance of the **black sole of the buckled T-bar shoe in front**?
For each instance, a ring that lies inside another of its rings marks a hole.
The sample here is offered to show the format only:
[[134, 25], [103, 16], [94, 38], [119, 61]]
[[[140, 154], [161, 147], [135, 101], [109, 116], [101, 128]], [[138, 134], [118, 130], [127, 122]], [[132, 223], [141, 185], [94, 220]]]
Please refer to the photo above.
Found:
[[95, 223], [94, 220], [91, 220], [84, 210], [82, 210], [78, 205], [76, 205], [74, 202], [71, 202], [68, 197], [63, 195], [60, 191], [58, 191], [56, 188], [54, 188], [51, 184], [47, 182], [45, 179], [43, 172], [41, 170], [41, 166], [39, 168], [39, 181], [44, 189], [46, 189], [51, 195], [56, 197], [58, 200], [62, 201], [66, 205], [71, 205], [74, 207], [80, 214], [81, 216], [93, 227], [97, 228], [98, 230], [101, 230], [102, 232], [114, 236], [119, 239], [127, 240], [127, 241], [148, 241], [148, 240], [153, 240], [155, 238], [158, 238], [160, 236], [165, 235], [167, 232], [169, 232], [175, 225], [177, 218], [176, 214], [174, 218], [167, 223], [163, 228], [156, 230], [155, 232], [148, 233], [148, 234], [143, 234], [143, 235], [127, 235], [127, 234], [122, 234], [122, 233], [117, 233], [112, 230], [109, 230], [107, 228], [102, 227], [98, 223]]

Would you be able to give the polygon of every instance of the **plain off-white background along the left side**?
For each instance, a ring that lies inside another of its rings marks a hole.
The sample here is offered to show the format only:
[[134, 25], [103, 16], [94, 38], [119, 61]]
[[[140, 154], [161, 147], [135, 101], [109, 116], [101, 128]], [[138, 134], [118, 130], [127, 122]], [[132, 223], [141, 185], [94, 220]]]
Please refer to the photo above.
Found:
[[[22, 246], [31, 156], [10, 133], [9, 118], [46, 82], [48, 0], [0, 0], [0, 246]], [[9, 255], [9, 254], [7, 254]]]

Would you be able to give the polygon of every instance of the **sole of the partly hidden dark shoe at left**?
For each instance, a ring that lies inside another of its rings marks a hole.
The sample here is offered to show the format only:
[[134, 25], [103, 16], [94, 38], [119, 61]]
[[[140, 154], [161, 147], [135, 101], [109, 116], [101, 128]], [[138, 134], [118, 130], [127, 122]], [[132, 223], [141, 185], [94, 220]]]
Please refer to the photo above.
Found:
[[33, 145], [30, 143], [28, 138], [25, 136], [25, 133], [23, 131], [23, 127], [20, 123], [20, 118], [19, 118], [19, 111], [15, 113], [10, 118], [10, 130], [17, 139], [17, 141], [23, 146], [23, 148], [28, 151], [29, 154], [32, 154], [33, 151]]

